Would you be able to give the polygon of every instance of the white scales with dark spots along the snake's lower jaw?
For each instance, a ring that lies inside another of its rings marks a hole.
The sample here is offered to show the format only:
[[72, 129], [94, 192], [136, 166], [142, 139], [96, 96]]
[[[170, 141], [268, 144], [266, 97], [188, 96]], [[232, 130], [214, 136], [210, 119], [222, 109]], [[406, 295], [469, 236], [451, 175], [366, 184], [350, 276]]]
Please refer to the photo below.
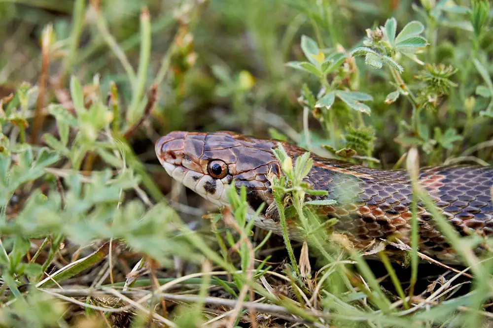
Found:
[[173, 179], [180, 182], [185, 187], [190, 188], [195, 193], [218, 206], [227, 205], [228, 201], [226, 197], [226, 188], [224, 188], [224, 181], [213, 179], [209, 175], [194, 172], [183, 166], [170, 164], [164, 161], [161, 164]]

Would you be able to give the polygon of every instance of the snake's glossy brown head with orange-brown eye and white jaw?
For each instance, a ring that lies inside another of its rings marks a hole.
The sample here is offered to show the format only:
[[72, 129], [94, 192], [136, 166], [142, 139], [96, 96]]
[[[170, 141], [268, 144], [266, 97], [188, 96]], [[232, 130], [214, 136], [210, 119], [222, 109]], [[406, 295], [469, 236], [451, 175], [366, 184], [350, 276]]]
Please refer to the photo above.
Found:
[[156, 141], [155, 151], [166, 172], [200, 196], [227, 205], [226, 190], [234, 180], [237, 189], [245, 185], [248, 204], [256, 210], [273, 201], [268, 172], [281, 172], [273, 147], [271, 140], [228, 131], [174, 131]]

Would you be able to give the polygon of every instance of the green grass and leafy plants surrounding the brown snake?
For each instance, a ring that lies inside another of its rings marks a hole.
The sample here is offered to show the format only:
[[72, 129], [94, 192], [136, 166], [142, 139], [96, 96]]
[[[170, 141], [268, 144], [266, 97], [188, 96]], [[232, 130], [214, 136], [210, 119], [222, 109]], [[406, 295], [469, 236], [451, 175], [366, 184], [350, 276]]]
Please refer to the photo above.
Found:
[[488, 1], [86, 2], [0, 1], [1, 327], [491, 324], [492, 263], [439, 215], [464, 266], [367, 262], [320, 234], [311, 160], [280, 151], [276, 201], [310, 231], [285, 247], [244, 193], [216, 214], [154, 154], [232, 130], [371, 167], [493, 163]]

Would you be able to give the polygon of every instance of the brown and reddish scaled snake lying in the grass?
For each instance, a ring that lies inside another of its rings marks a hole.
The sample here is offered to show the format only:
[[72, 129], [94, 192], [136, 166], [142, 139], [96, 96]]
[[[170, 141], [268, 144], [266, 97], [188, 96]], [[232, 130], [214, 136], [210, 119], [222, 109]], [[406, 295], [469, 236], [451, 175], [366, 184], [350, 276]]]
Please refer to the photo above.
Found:
[[[274, 153], [279, 145], [293, 161], [307, 152], [289, 142], [231, 131], [172, 131], [156, 141], [155, 152], [173, 179], [219, 207], [229, 205], [228, 188], [240, 190], [245, 186], [249, 213], [257, 214], [249, 216], [254, 225], [282, 234], [269, 178], [269, 175], [284, 174]], [[336, 219], [327, 229], [344, 236], [352, 248], [361, 251], [368, 252], [384, 242], [392, 259], [399, 258], [403, 251], [395, 246], [395, 241], [407, 246], [411, 242], [414, 192], [408, 170], [370, 168], [314, 153], [310, 157], [313, 166], [303, 181], [311, 189], [325, 193], [322, 196], [307, 193], [305, 199], [335, 201], [317, 206], [321, 218]], [[420, 167], [418, 179], [459, 237], [487, 239], [493, 235], [493, 166]], [[441, 232], [429, 209], [421, 199], [415, 202], [418, 251], [443, 263], [460, 263], [458, 252]], [[289, 219], [286, 225], [289, 239], [303, 239], [296, 220]], [[476, 246], [475, 252], [480, 249], [485, 251], [484, 247]]]

